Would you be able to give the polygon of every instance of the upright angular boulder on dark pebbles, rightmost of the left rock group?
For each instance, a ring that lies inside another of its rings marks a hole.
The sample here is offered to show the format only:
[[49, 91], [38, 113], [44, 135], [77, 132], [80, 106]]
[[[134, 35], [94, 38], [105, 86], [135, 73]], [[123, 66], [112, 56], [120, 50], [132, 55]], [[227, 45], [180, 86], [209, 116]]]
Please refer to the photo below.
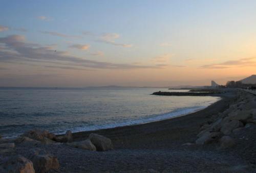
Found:
[[97, 151], [108, 151], [113, 149], [111, 139], [106, 138], [102, 135], [95, 133], [90, 134], [89, 136], [92, 143], [96, 146]]

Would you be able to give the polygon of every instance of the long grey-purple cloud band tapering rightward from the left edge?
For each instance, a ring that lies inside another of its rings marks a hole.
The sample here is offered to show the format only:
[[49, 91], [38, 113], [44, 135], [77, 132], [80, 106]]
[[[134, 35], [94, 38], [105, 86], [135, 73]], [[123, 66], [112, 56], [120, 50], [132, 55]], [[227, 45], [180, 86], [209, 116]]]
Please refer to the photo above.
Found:
[[76, 56], [68, 55], [67, 52], [49, 49], [25, 42], [22, 35], [11, 35], [0, 37], [0, 43], [5, 44], [7, 50], [0, 50], [0, 62], [26, 63], [37, 65], [70, 66], [73, 68], [96, 68], [96, 69], [141, 69], [141, 68], [163, 68], [164, 65], [133, 65], [126, 63], [111, 63], [94, 60], [87, 60]]

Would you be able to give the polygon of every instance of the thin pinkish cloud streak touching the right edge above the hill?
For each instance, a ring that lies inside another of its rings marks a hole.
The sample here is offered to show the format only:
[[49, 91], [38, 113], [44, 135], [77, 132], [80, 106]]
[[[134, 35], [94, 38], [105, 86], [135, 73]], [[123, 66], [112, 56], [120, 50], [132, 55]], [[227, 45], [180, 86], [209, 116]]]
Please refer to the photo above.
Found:
[[225, 61], [222, 63], [206, 64], [200, 67], [209, 68], [209, 69], [223, 69], [223, 68], [231, 68], [231, 67], [256, 66], [255, 60], [256, 58], [242, 58], [239, 60]]

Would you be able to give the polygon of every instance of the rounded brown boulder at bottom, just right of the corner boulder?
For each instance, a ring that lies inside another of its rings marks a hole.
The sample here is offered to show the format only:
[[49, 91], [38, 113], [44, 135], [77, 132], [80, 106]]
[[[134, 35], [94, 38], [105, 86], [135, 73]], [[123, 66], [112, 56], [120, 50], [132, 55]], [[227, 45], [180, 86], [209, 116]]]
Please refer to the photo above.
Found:
[[35, 153], [31, 157], [31, 161], [33, 162], [35, 171], [38, 173], [44, 173], [51, 169], [56, 170], [59, 168], [57, 157], [45, 154], [42, 151]]

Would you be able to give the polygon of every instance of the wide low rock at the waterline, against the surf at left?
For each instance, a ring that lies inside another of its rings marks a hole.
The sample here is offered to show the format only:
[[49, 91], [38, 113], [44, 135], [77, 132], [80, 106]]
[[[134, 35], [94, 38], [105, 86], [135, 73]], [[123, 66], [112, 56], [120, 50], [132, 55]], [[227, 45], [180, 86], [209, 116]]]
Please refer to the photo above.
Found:
[[35, 129], [35, 130], [30, 130], [26, 133], [24, 133], [22, 136], [26, 136], [26, 137], [29, 137], [31, 139], [35, 139], [35, 140], [43, 140], [44, 137], [47, 137], [49, 139], [55, 139], [56, 136], [53, 134], [53, 133], [50, 133], [46, 130], [42, 131], [42, 130], [39, 130], [39, 129]]

